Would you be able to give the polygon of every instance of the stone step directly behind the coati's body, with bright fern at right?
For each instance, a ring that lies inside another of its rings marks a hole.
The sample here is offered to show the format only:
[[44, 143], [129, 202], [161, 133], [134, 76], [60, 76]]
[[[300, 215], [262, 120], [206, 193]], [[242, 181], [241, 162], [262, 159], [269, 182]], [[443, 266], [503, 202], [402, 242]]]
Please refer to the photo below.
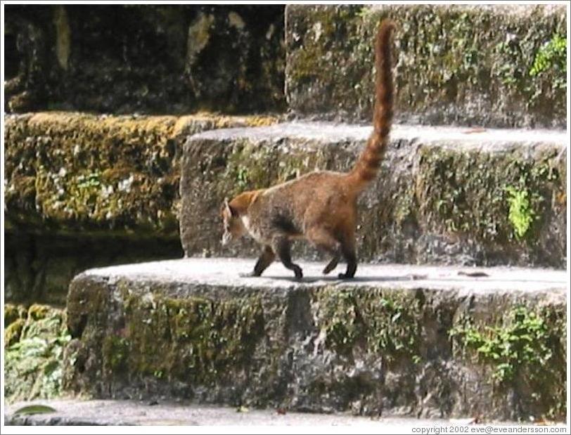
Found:
[[[370, 126], [288, 122], [188, 138], [181, 241], [188, 256], [223, 249], [224, 197], [314, 169], [349, 170]], [[376, 182], [359, 202], [361, 261], [565, 267], [565, 131], [395, 124]], [[297, 256], [316, 258], [300, 244]]]

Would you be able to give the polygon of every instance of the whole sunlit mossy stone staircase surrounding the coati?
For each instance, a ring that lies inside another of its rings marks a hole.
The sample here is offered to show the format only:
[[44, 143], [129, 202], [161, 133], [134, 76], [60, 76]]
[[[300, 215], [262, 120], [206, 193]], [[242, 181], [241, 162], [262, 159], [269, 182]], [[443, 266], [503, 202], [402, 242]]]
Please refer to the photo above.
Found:
[[[188, 257], [75, 276], [65, 391], [563, 420], [568, 138], [553, 41], [564, 36], [565, 8], [507, 12], [287, 6], [286, 117], [10, 115], [11, 228], [179, 231]], [[378, 180], [359, 201], [357, 278], [324, 278], [319, 254], [301, 243], [302, 281], [278, 263], [262, 278], [238, 278], [257, 247], [222, 248], [222, 200], [352, 167], [371, 132], [371, 35], [383, 16], [400, 23], [399, 115]], [[531, 74], [538, 56], [543, 70]], [[105, 172], [99, 155], [121, 171]], [[86, 195], [75, 200], [78, 177]], [[51, 197], [56, 184], [63, 193]]]

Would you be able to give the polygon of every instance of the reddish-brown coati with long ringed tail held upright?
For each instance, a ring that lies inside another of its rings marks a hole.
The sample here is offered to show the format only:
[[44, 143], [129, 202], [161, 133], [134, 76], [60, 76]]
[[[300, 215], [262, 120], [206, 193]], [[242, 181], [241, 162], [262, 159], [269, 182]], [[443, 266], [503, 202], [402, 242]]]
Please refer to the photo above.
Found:
[[390, 37], [393, 29], [394, 23], [390, 20], [383, 20], [378, 27], [374, 129], [352, 171], [314, 171], [271, 188], [241, 193], [231, 201], [224, 200], [222, 245], [250, 234], [262, 246], [254, 270], [240, 276], [262, 275], [277, 256], [283, 266], [295, 273], [295, 278], [302, 278], [302, 268], [291, 259], [290, 245], [293, 240], [304, 238], [331, 254], [324, 274], [333, 271], [343, 257], [347, 270], [340, 273], [339, 278], [354, 277], [357, 197], [376, 178], [392, 122]]

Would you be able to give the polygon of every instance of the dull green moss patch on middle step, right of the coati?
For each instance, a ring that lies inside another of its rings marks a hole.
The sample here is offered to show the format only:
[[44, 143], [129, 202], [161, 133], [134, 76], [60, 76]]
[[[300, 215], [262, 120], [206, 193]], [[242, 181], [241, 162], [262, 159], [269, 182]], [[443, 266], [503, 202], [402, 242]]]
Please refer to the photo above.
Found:
[[440, 231], [509, 243], [519, 239], [510, 220], [510, 189], [525, 190], [527, 208], [535, 214], [528, 222], [529, 240], [537, 240], [542, 216], [553, 206], [551, 192], [562, 183], [554, 163], [553, 155], [530, 160], [517, 150], [494, 155], [423, 148], [416, 182], [421, 215]]

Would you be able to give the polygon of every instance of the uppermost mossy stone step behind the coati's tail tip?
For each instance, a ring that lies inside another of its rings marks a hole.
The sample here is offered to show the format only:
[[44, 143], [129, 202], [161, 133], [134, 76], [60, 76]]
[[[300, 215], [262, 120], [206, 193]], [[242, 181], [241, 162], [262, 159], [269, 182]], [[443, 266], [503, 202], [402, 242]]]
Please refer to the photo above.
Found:
[[565, 128], [566, 8], [561, 5], [288, 5], [290, 110], [371, 118], [373, 38], [394, 35], [401, 122]]

